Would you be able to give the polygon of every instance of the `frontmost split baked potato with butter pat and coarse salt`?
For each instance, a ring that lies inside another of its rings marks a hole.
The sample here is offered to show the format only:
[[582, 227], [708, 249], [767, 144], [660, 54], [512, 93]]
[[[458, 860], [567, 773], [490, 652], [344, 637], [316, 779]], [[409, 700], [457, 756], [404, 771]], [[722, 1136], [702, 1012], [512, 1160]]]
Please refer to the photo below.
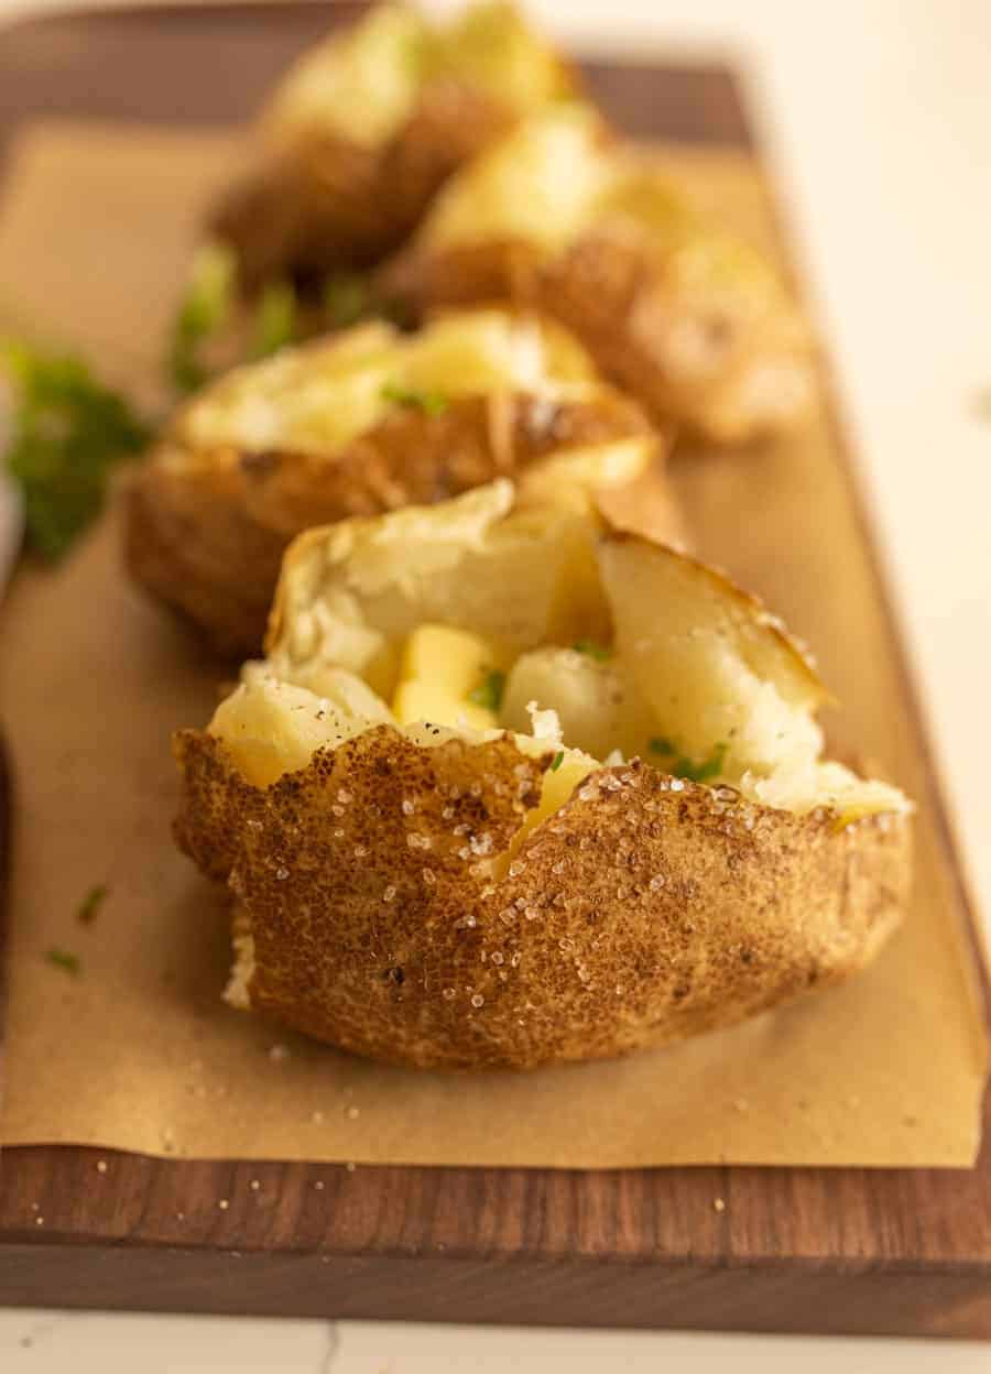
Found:
[[290, 548], [268, 657], [175, 741], [228, 999], [378, 1059], [531, 1068], [724, 1026], [899, 922], [910, 805], [716, 570], [500, 480]]

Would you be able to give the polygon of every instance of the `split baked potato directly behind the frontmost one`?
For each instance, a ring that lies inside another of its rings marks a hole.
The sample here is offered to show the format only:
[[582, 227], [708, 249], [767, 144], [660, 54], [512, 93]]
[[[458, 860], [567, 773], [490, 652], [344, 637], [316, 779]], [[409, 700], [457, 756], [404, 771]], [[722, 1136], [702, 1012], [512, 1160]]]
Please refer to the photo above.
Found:
[[[179, 411], [126, 485], [126, 562], [219, 653], [243, 658], [261, 646], [300, 530], [493, 477], [537, 481], [543, 469], [553, 481], [553, 455], [606, 440], [628, 440], [595, 467], [608, 485], [658, 453], [639, 407], [558, 326], [506, 311], [416, 334], [356, 326], [238, 368]], [[580, 475], [580, 456], [570, 467]]]

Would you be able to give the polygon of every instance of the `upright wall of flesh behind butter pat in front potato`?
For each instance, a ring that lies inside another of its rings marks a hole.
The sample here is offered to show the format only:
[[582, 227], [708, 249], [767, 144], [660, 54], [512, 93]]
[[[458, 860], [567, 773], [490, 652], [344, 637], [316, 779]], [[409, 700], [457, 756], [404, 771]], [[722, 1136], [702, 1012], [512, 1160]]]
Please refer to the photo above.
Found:
[[274, 671], [329, 662], [389, 698], [422, 624], [481, 633], [510, 655], [609, 633], [594, 576], [597, 530], [568, 510], [513, 507], [507, 481], [433, 507], [311, 530], [276, 594]]

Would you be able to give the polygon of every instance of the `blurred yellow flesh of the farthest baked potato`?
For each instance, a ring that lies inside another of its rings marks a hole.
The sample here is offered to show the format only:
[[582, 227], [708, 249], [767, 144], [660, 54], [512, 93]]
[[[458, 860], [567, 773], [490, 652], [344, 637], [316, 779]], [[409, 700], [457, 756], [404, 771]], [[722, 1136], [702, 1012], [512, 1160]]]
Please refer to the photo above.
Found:
[[476, 4], [448, 25], [378, 5], [307, 54], [265, 115], [272, 143], [333, 132], [375, 147], [412, 114], [423, 88], [458, 81], [524, 114], [570, 89], [564, 63], [509, 4]]

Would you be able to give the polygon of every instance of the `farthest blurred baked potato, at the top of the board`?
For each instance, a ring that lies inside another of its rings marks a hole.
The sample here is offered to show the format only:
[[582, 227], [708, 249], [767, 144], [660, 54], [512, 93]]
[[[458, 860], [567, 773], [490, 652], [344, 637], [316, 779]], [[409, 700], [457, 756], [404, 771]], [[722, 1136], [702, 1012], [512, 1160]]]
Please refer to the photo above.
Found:
[[274, 276], [320, 286], [394, 249], [455, 168], [575, 88], [509, 4], [447, 25], [379, 5], [289, 71], [212, 234], [236, 251], [249, 291]]

